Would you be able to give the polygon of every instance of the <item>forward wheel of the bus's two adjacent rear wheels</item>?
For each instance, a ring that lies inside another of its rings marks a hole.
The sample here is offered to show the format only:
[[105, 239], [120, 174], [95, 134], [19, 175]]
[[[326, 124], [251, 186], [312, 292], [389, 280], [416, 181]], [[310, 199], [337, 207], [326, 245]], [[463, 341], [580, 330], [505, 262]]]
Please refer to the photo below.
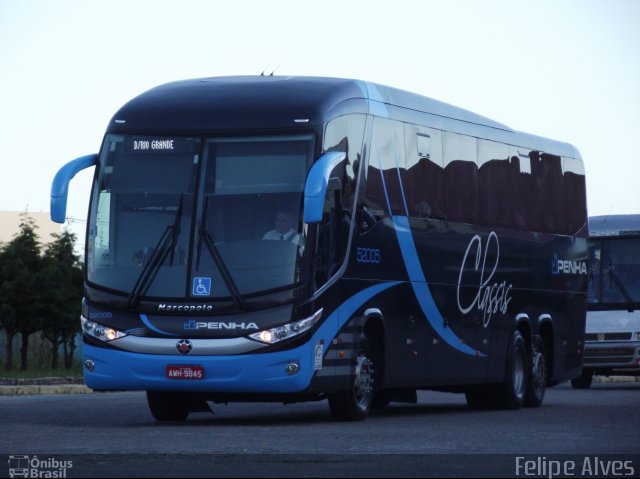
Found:
[[529, 381], [527, 346], [520, 331], [514, 331], [507, 350], [507, 368], [504, 383], [497, 391], [499, 409], [519, 409], [524, 400]]

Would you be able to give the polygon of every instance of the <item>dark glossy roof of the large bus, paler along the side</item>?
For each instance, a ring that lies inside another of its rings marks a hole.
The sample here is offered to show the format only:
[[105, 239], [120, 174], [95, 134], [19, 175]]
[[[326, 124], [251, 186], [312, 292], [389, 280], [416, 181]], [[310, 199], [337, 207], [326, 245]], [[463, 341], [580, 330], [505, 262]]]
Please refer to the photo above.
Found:
[[211, 132], [309, 128], [345, 113], [370, 113], [580, 159], [571, 145], [512, 130], [425, 96], [360, 80], [230, 76], [182, 80], [142, 93], [109, 131]]

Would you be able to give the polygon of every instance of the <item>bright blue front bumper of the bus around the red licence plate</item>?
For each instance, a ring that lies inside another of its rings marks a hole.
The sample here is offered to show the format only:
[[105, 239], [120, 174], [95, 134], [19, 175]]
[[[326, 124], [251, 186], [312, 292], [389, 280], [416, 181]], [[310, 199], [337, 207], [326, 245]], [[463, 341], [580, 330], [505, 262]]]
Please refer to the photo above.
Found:
[[[83, 346], [83, 362], [95, 363], [93, 371], [85, 368], [85, 383], [96, 390], [299, 393], [314, 373], [314, 348], [309, 343], [289, 351], [237, 356], [140, 354]], [[290, 376], [285, 368], [291, 362], [300, 369]], [[168, 379], [169, 365], [202, 366], [204, 378]]]

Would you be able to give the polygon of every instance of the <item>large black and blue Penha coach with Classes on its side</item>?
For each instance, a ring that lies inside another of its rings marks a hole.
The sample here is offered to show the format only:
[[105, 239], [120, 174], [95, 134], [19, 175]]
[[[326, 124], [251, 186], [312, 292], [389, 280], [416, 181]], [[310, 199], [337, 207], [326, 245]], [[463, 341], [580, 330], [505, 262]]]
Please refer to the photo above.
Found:
[[580, 374], [583, 163], [569, 144], [364, 81], [221, 77], [153, 88], [95, 166], [86, 384], [209, 403], [328, 399], [365, 418], [416, 391], [540, 406]]

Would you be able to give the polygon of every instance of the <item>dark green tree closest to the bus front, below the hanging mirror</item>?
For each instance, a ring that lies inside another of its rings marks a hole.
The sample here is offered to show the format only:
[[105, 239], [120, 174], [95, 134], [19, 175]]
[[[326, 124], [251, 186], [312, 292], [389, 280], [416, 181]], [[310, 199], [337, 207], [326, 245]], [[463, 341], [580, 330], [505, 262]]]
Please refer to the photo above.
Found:
[[42, 321], [42, 332], [51, 343], [51, 368], [56, 369], [59, 349], [64, 347], [67, 369], [73, 363], [75, 336], [80, 328], [82, 301], [82, 262], [74, 252], [76, 235], [70, 231], [54, 234], [43, 256], [39, 283], [55, 285], [43, 290], [37, 314]]

